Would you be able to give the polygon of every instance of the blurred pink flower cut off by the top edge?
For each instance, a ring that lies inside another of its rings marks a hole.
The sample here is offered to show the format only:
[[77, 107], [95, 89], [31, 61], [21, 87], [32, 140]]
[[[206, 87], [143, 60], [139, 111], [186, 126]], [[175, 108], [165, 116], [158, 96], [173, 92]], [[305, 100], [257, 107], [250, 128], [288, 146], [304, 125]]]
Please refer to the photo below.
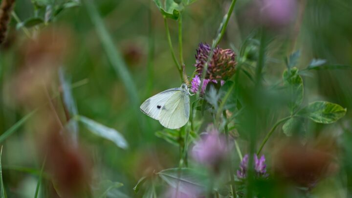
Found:
[[260, 20], [267, 26], [283, 26], [296, 16], [297, 0], [258, 0]]

